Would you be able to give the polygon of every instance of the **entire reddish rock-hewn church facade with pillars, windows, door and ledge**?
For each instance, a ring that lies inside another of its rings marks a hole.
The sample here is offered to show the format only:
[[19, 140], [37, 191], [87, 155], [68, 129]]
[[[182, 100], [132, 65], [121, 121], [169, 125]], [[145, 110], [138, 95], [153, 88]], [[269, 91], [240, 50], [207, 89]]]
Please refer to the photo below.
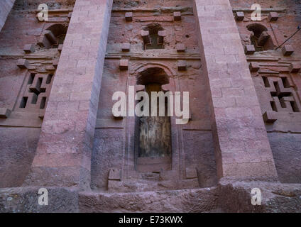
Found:
[[[300, 26], [294, 0], [1, 1], [0, 211], [300, 212]], [[112, 114], [141, 91], [189, 92], [188, 122]]]

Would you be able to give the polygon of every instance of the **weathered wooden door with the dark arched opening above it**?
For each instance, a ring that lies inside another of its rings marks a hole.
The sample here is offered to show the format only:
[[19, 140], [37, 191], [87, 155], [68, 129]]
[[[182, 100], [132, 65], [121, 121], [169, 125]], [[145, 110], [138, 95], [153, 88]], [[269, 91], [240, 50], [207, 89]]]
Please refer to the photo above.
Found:
[[168, 83], [168, 75], [159, 67], [150, 67], [137, 77], [137, 84], [143, 85], [143, 92], [148, 94], [149, 110], [157, 110], [157, 116], [136, 116], [138, 118], [135, 131], [138, 133], [136, 170], [139, 172], [160, 172], [171, 169], [172, 147], [168, 100], [167, 98], [164, 100], [165, 116], [159, 116], [159, 99], [155, 106], [151, 101], [152, 93], [163, 92], [163, 84]]

